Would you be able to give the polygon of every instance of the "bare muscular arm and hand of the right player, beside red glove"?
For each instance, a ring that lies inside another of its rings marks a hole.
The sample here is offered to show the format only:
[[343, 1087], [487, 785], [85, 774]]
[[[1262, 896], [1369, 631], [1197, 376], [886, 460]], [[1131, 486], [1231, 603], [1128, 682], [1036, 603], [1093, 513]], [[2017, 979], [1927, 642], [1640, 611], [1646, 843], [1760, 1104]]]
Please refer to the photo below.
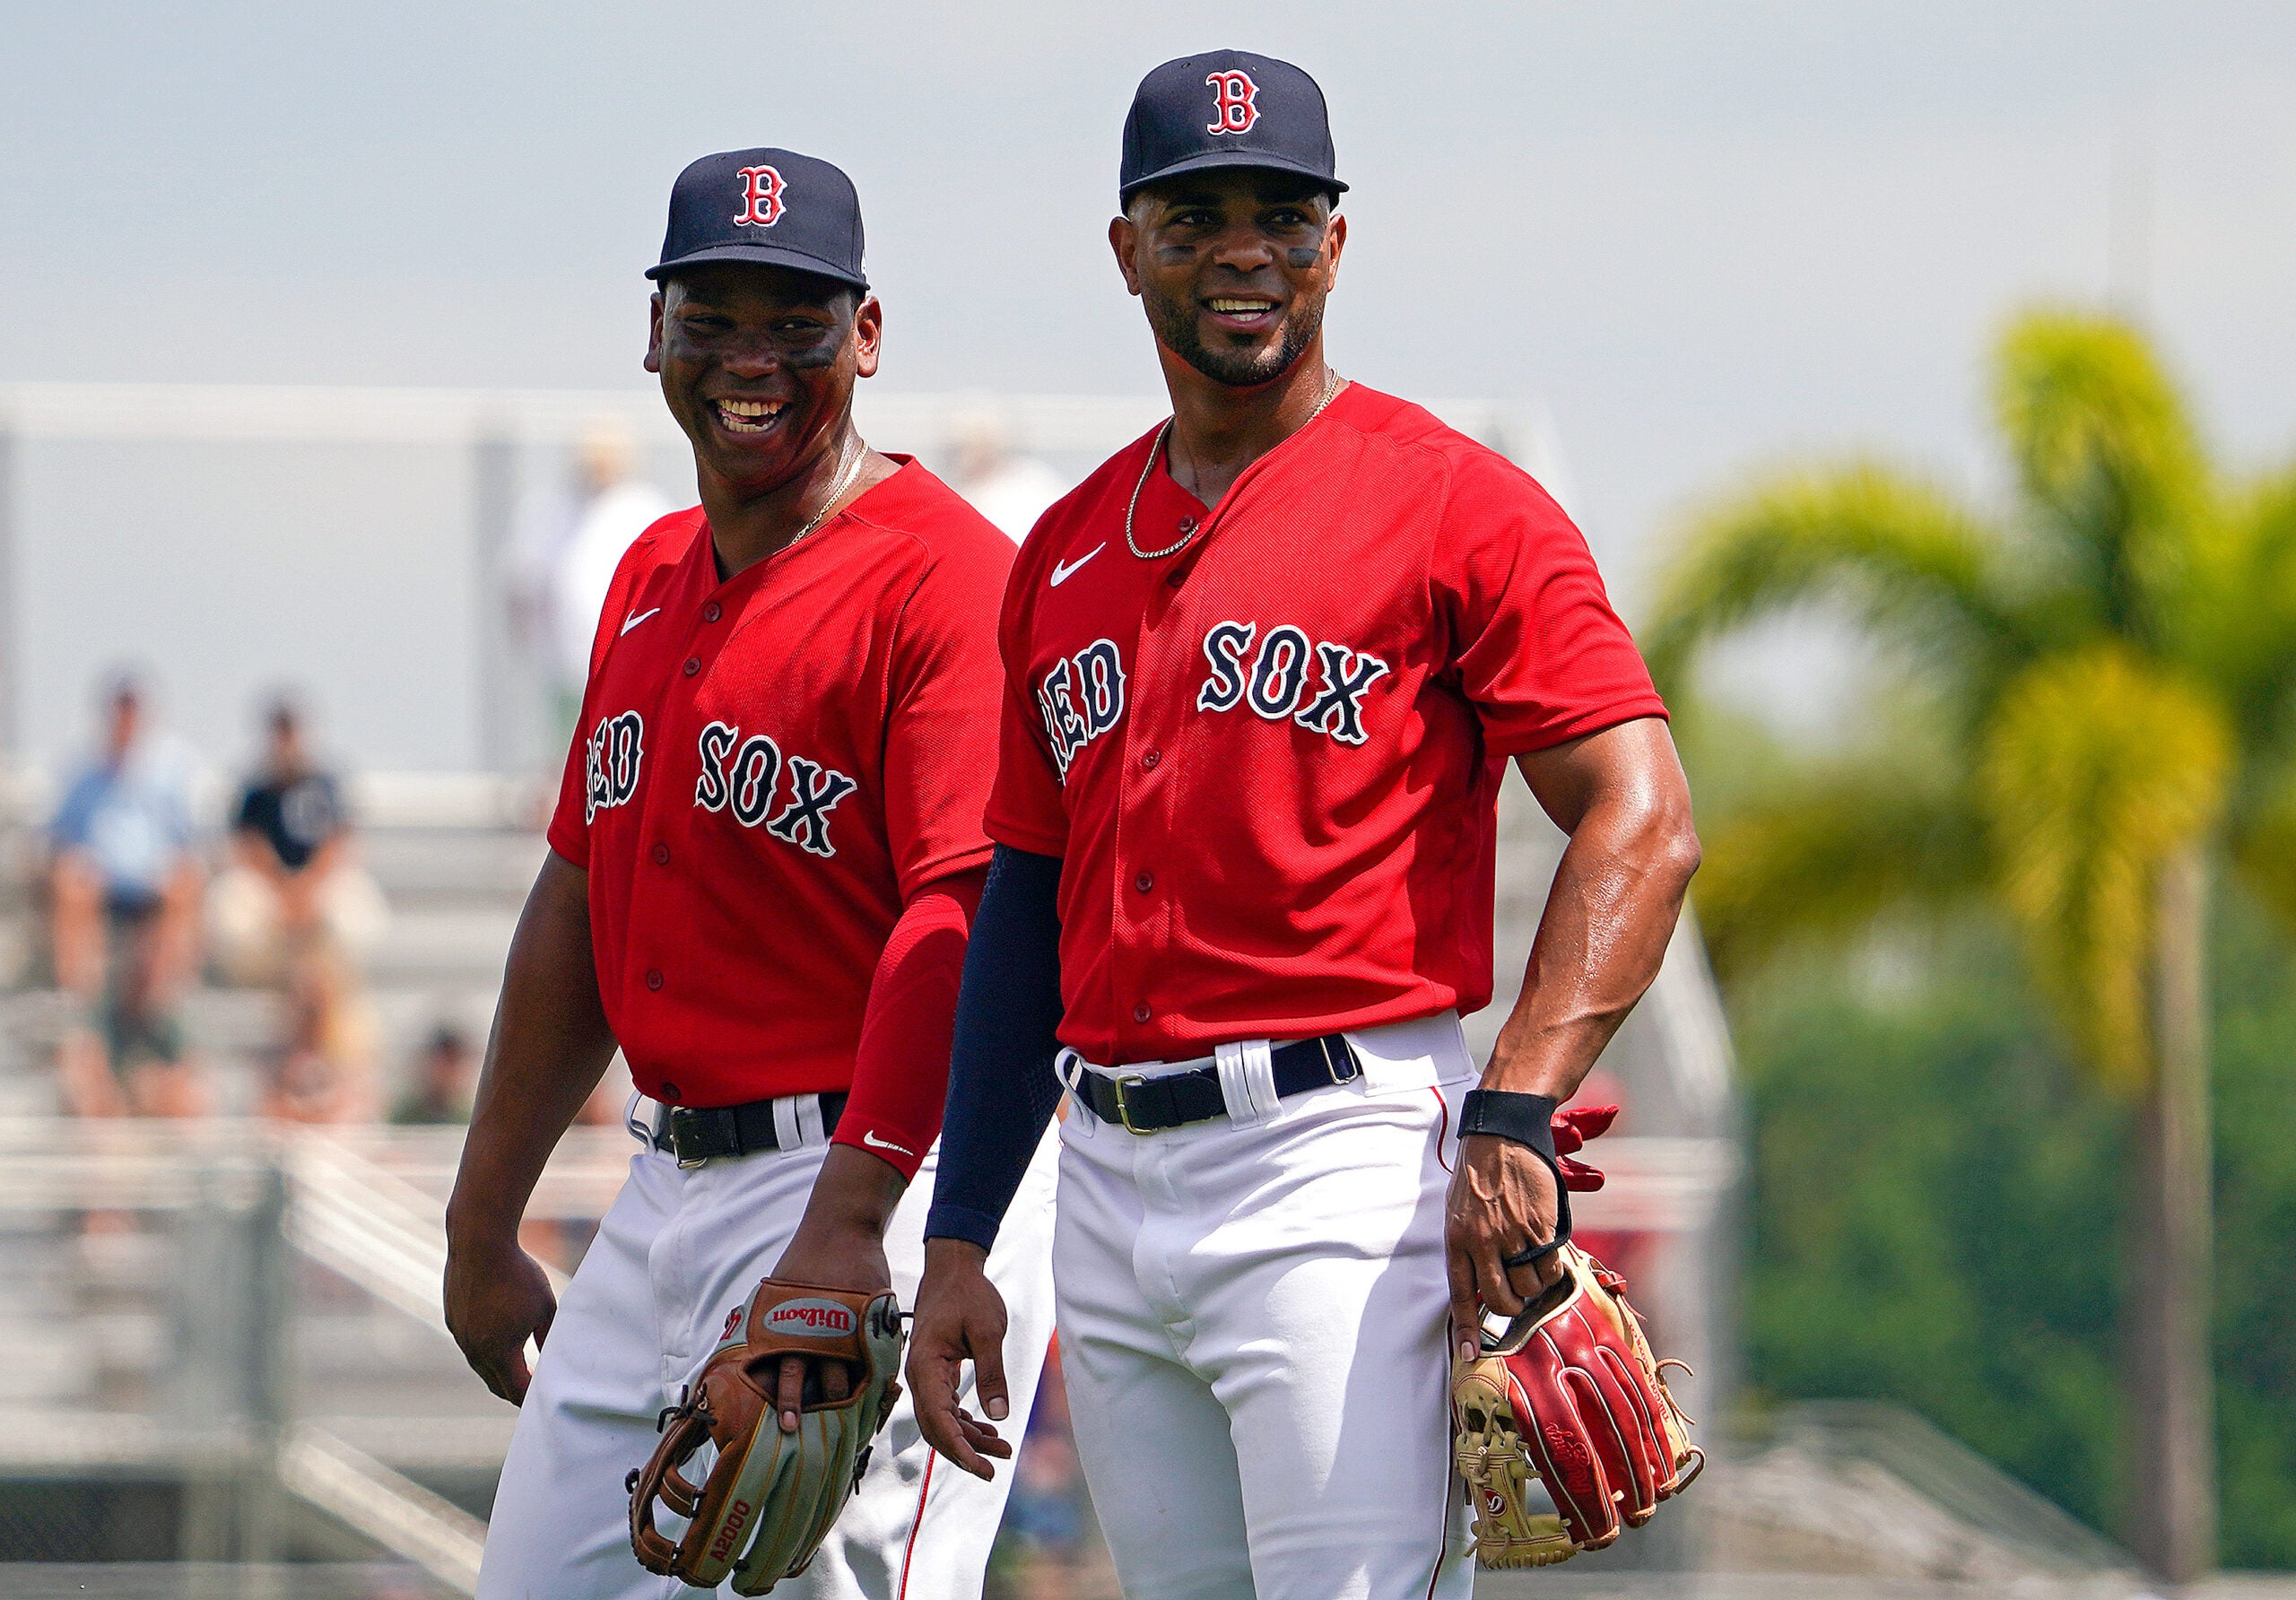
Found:
[[[1699, 842], [1674, 739], [1655, 716], [1531, 751], [1515, 764], [1570, 845], [1483, 1088], [1566, 1102], [1658, 976]], [[1511, 1139], [1460, 1139], [1446, 1249], [1451, 1320], [1467, 1354], [1476, 1302], [1513, 1315], [1561, 1272], [1554, 1256], [1502, 1265], [1552, 1240], [1554, 1226], [1554, 1173], [1538, 1155]]]

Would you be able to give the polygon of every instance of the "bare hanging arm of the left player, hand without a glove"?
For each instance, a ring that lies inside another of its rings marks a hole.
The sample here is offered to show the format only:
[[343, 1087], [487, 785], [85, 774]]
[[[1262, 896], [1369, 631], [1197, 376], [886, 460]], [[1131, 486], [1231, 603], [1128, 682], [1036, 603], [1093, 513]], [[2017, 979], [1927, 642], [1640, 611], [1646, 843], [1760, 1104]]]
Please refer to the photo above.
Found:
[[471, 1134], [445, 1207], [445, 1325], [505, 1400], [526, 1398], [526, 1341], [542, 1343], [556, 1299], [519, 1249], [519, 1219], [542, 1164], [613, 1061], [613, 1031], [590, 960], [590, 886], [544, 856], [510, 939], [503, 999], [487, 1038]]

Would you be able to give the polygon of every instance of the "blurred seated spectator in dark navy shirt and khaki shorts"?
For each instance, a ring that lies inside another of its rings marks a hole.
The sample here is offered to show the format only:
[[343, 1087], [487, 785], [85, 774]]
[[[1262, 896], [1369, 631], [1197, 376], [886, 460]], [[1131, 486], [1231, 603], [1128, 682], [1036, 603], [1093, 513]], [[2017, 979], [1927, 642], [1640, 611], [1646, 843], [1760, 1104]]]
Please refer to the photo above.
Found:
[[374, 1116], [374, 1024], [360, 957], [390, 923], [354, 859], [342, 790], [310, 753], [303, 714], [276, 700], [232, 817], [232, 865], [207, 898], [216, 969], [280, 992], [282, 1040], [264, 1113], [296, 1123]]

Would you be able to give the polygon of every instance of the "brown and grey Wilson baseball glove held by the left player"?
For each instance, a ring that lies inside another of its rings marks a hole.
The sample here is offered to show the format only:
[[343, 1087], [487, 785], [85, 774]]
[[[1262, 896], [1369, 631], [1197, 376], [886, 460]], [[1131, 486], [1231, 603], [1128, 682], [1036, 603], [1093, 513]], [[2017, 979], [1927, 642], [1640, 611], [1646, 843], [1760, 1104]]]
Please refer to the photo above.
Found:
[[[726, 1320], [719, 1347], [661, 1414], [654, 1458], [629, 1474], [629, 1547], [647, 1572], [735, 1593], [762, 1595], [813, 1561], [868, 1467], [868, 1446], [900, 1393], [900, 1304], [813, 1283], [765, 1279]], [[774, 1414], [781, 1357], [843, 1361], [843, 1400], [822, 1396], [820, 1368], [806, 1377], [797, 1432]], [[712, 1448], [696, 1485], [687, 1462]], [[654, 1529], [654, 1504], [687, 1520], [673, 1543]]]

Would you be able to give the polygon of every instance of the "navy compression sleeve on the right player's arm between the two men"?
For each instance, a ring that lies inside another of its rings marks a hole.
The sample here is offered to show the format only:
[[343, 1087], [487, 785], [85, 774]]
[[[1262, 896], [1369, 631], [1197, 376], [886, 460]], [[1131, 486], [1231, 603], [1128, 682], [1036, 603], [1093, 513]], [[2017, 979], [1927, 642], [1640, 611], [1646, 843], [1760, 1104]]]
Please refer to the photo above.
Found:
[[964, 946], [928, 1240], [996, 1242], [1061, 1104], [1061, 859], [996, 847]]

